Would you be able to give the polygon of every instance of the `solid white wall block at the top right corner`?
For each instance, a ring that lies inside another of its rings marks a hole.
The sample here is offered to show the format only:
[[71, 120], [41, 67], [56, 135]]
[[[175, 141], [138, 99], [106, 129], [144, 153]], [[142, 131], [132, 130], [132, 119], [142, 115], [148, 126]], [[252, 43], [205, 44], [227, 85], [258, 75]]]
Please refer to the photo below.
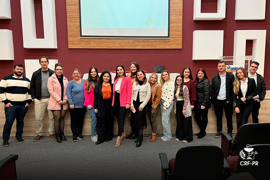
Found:
[[265, 19], [266, 0], [236, 0], [235, 20]]

